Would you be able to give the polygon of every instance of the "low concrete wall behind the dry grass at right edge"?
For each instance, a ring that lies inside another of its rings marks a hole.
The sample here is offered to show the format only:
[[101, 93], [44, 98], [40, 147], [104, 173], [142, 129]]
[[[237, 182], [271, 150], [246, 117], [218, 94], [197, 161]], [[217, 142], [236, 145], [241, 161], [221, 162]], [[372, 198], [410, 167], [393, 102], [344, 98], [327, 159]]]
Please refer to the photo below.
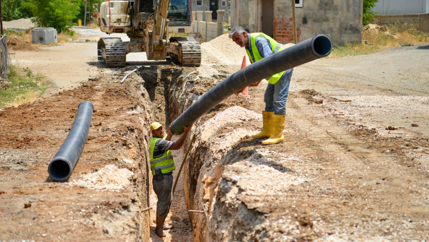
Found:
[[377, 15], [377, 24], [415, 23], [419, 30], [429, 33], [429, 13], [421, 14], [399, 14], [399, 15]]

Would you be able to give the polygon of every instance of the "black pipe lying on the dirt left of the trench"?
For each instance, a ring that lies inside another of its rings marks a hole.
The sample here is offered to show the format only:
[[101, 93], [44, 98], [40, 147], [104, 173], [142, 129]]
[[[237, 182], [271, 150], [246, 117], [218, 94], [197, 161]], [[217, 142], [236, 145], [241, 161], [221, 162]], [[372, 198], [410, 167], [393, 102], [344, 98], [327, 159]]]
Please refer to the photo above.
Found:
[[91, 102], [79, 103], [78, 113], [69, 135], [48, 166], [49, 175], [54, 180], [63, 181], [72, 174], [88, 137], [93, 111], [94, 106]]

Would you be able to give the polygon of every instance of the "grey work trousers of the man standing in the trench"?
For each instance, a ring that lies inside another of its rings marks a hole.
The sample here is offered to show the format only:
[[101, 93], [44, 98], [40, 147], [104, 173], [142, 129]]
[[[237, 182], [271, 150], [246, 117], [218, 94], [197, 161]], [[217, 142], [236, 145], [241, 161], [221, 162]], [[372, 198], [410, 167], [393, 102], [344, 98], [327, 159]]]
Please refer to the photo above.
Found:
[[165, 217], [170, 211], [170, 204], [173, 200], [172, 188], [173, 188], [173, 173], [162, 174], [163, 178], [160, 181], [155, 179], [152, 180], [154, 191], [157, 194], [157, 216]]

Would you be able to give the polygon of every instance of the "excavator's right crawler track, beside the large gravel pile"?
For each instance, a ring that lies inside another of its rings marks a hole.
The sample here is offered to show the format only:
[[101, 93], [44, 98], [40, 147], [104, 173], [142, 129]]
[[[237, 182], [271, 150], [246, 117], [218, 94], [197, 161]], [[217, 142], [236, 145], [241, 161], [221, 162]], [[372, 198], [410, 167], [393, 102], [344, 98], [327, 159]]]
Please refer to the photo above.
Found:
[[192, 37], [174, 37], [170, 41], [178, 42], [181, 49], [180, 56], [172, 55], [182, 66], [200, 66], [201, 65], [201, 45]]

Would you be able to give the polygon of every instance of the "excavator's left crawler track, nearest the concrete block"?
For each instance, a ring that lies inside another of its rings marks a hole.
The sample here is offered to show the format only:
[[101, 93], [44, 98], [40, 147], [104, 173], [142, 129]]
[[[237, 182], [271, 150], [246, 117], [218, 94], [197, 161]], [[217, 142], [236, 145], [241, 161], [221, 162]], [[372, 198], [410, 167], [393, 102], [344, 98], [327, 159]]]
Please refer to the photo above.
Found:
[[125, 66], [127, 54], [121, 38], [100, 38], [97, 48], [98, 61], [106, 67]]

